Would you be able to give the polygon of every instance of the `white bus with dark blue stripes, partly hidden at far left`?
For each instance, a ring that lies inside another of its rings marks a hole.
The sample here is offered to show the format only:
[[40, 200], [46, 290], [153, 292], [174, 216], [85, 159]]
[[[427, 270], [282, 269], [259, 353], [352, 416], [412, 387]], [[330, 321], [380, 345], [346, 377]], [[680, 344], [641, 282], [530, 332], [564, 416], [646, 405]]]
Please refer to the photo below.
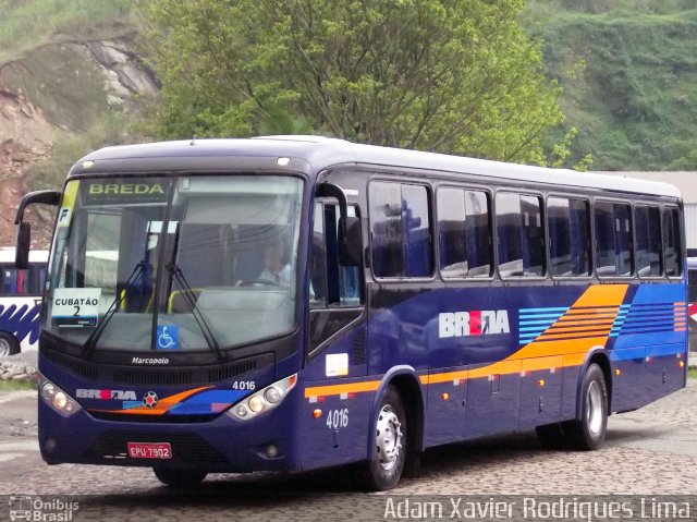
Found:
[[14, 267], [14, 247], [0, 247], [0, 356], [36, 350], [48, 251], [32, 251], [29, 267]]

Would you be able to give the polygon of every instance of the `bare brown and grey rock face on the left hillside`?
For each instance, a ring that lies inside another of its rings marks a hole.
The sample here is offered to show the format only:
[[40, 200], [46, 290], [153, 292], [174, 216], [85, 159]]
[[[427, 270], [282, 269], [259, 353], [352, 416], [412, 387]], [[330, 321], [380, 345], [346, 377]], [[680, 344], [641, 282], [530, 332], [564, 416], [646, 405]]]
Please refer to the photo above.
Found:
[[27, 166], [50, 157], [62, 136], [108, 122], [114, 111], [127, 114], [137, 97], [157, 94], [155, 75], [134, 48], [130, 37], [61, 43], [0, 64], [0, 246], [14, 243], [14, 209], [27, 191]]

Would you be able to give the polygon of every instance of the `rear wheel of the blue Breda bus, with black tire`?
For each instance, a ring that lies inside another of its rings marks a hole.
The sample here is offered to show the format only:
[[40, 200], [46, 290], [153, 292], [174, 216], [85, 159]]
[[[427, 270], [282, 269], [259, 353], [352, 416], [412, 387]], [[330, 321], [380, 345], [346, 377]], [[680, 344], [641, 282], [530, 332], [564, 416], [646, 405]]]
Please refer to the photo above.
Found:
[[562, 429], [571, 448], [589, 451], [600, 448], [608, 430], [608, 386], [597, 364], [590, 364], [580, 388], [580, 420], [567, 421]]

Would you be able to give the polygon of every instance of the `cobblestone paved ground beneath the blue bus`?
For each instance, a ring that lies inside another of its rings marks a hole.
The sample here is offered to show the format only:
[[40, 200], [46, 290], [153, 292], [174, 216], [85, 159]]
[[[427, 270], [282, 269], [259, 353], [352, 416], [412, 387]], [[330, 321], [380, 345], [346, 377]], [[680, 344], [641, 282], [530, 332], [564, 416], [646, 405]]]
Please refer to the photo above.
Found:
[[[384, 514], [387, 495], [356, 491], [347, 472], [210, 475], [192, 495], [172, 496], [149, 470], [48, 466], [36, 444], [35, 402], [34, 392], [0, 394], [0, 495], [89, 495], [78, 499], [77, 520], [382, 520]], [[611, 417], [600, 451], [546, 451], [533, 433], [437, 448], [426, 453], [421, 477], [403, 479], [390, 493], [395, 494], [697, 495], [697, 379], [638, 412]], [[0, 520], [9, 513], [4, 510], [0, 503]], [[697, 503], [694, 510], [697, 515]]]

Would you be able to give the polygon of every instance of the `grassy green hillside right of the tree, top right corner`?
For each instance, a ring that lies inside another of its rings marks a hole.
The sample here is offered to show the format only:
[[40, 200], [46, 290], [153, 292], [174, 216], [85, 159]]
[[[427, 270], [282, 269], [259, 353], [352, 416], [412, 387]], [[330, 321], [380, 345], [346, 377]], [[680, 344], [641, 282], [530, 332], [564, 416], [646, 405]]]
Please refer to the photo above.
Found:
[[697, 170], [697, 9], [687, 0], [530, 0], [525, 25], [545, 41], [564, 89], [572, 162], [596, 170]]

